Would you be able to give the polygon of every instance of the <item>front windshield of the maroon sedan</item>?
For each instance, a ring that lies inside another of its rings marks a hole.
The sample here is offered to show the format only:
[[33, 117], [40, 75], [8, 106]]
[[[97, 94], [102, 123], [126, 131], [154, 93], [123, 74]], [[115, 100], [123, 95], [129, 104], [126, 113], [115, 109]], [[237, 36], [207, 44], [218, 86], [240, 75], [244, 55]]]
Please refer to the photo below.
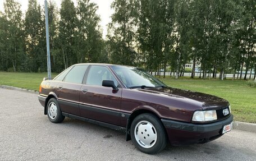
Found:
[[164, 88], [163, 82], [159, 81], [148, 72], [136, 67], [112, 66], [118, 77], [127, 88]]

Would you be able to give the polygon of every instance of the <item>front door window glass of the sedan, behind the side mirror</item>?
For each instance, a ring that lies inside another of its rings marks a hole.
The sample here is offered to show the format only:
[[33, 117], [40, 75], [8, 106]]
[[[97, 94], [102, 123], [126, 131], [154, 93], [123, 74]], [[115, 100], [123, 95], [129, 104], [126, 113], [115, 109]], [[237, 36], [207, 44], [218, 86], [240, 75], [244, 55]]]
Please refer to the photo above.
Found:
[[86, 84], [101, 86], [103, 80], [112, 80], [116, 86], [118, 85], [116, 78], [107, 67], [91, 66], [86, 79]]

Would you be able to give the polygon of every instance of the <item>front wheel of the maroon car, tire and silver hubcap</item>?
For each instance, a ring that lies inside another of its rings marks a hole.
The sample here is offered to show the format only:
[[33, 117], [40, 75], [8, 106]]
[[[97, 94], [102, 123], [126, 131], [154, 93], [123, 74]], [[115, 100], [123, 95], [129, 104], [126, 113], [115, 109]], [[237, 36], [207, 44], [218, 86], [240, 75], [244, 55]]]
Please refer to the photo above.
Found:
[[167, 135], [158, 117], [140, 114], [131, 123], [131, 140], [143, 153], [156, 154], [167, 145]]

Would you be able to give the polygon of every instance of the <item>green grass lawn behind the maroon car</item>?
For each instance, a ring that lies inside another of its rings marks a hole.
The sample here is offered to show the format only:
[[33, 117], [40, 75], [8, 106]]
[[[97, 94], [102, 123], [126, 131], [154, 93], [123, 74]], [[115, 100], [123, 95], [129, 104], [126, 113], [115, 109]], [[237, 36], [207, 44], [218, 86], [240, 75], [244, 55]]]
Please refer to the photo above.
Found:
[[[57, 73], [52, 73], [52, 77]], [[0, 72], [0, 85], [16, 86], [30, 90], [39, 90], [39, 85], [47, 73]], [[231, 104], [235, 121], [256, 123], [256, 88], [250, 88], [244, 80], [202, 80], [181, 78], [178, 80], [161, 78], [173, 88], [199, 91], [220, 96]]]

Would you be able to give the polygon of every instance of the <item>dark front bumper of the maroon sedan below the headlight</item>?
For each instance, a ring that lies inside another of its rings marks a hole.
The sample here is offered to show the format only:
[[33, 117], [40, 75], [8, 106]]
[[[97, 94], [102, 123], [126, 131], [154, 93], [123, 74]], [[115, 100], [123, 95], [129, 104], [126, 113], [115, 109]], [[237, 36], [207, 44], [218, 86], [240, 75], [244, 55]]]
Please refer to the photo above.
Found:
[[171, 144], [198, 144], [212, 141], [222, 136], [222, 128], [233, 121], [233, 115], [218, 122], [207, 124], [186, 123], [161, 119], [166, 127], [167, 135]]

